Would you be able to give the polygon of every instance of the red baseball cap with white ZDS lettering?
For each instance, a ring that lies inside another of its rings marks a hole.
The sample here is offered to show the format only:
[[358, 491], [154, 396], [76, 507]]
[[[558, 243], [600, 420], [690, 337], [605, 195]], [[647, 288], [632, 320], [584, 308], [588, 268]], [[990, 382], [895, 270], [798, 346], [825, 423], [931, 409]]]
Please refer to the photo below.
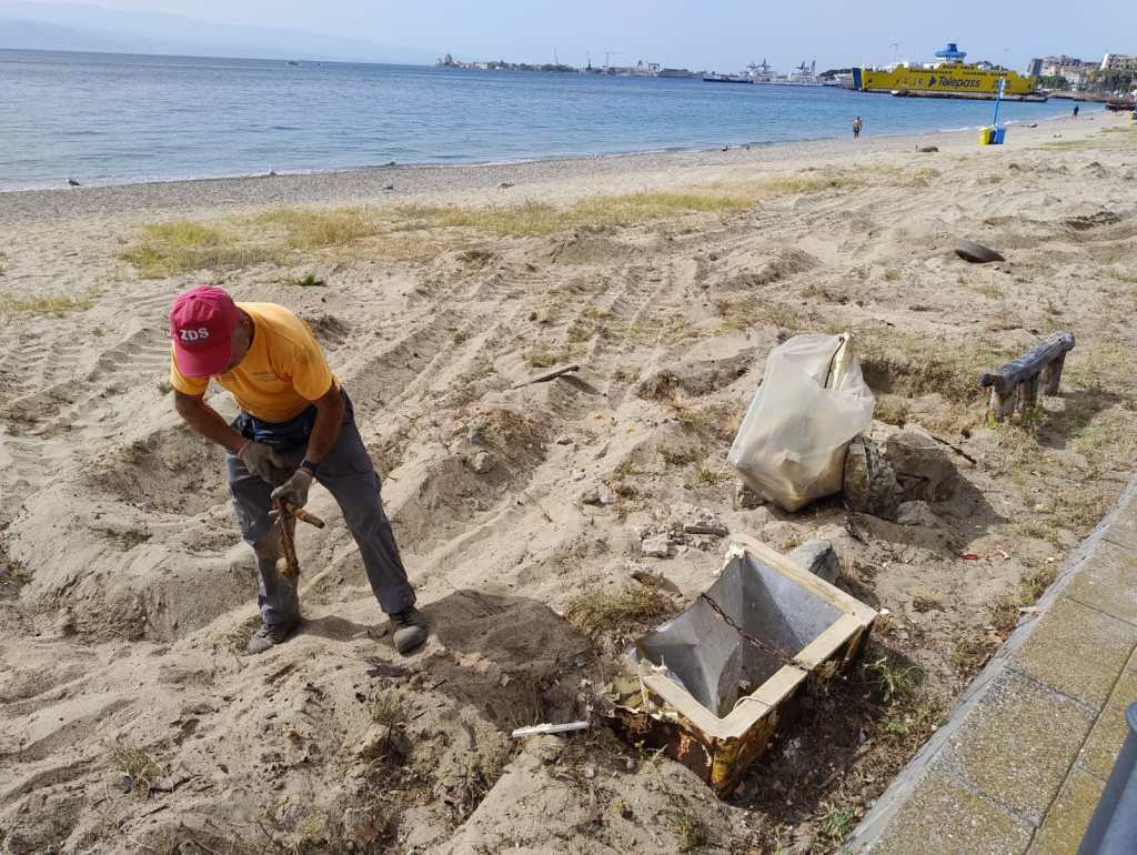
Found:
[[233, 330], [241, 315], [229, 292], [199, 285], [174, 300], [169, 337], [177, 370], [188, 377], [221, 374], [233, 357]]

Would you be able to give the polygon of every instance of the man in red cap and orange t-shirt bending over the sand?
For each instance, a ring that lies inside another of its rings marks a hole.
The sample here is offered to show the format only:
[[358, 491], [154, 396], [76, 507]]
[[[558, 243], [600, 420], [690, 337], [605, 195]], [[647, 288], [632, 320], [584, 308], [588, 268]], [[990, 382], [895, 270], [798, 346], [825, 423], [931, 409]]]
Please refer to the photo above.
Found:
[[[313, 481], [335, 497], [359, 546], [367, 581], [391, 617], [395, 647], [426, 640], [415, 591], [383, 513], [380, 481], [355, 412], [319, 345], [300, 318], [272, 302], [234, 302], [219, 288], [181, 294], [169, 313], [169, 382], [177, 414], [223, 446], [241, 537], [257, 556], [260, 617], [249, 653], [282, 644], [300, 623], [297, 581], [276, 572], [273, 503], [302, 508]], [[227, 389], [240, 415], [232, 425], [204, 400], [210, 380]]]

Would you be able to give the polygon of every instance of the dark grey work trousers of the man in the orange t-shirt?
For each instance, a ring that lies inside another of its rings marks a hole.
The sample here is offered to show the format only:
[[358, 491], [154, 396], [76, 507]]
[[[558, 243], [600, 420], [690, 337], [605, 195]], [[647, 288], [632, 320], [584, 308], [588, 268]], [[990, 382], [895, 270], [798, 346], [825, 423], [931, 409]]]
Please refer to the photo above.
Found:
[[[297, 449], [297, 454], [302, 456], [304, 448]], [[299, 462], [296, 460], [297, 464]], [[260, 617], [269, 626], [291, 623], [300, 616], [299, 580], [289, 581], [276, 573], [280, 546], [275, 526], [268, 518], [273, 487], [251, 474], [234, 455], [225, 456], [225, 470], [241, 537], [257, 556]], [[413, 606], [415, 591], [407, 581], [391, 523], [383, 512], [379, 473], [367, 456], [352, 417], [345, 420], [331, 454], [319, 464], [316, 481], [327, 488], [339, 503], [343, 521], [359, 546], [367, 581], [380, 608], [387, 614], [396, 614]]]

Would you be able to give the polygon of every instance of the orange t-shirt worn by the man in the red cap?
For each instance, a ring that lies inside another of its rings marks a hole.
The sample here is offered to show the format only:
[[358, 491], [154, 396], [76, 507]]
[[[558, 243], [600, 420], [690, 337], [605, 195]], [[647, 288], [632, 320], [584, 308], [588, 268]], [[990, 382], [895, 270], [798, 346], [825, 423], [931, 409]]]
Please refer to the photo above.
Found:
[[275, 302], [239, 302], [256, 326], [252, 346], [233, 371], [214, 377], [188, 377], [169, 355], [169, 383], [184, 395], [201, 396], [216, 380], [236, 404], [263, 422], [287, 422], [307, 409], [335, 383], [308, 325]]

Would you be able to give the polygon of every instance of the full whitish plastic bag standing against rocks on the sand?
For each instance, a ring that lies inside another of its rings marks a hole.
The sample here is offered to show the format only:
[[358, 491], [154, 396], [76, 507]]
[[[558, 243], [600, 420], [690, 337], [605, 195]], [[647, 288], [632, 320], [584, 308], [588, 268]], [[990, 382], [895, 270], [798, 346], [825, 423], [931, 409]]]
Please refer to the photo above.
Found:
[[841, 489], [849, 441], [875, 402], [848, 333], [795, 335], [770, 351], [727, 459], [766, 501], [797, 510]]

